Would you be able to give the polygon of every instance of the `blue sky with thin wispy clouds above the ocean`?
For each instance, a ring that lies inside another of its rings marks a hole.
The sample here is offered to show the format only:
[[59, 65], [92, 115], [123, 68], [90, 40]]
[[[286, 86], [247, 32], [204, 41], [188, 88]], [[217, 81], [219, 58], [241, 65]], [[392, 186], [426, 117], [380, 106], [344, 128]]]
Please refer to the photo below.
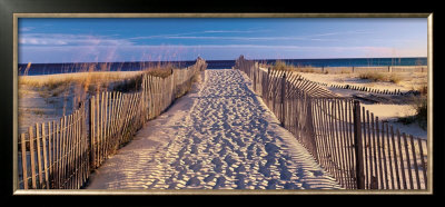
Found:
[[426, 18], [20, 18], [19, 63], [426, 57]]

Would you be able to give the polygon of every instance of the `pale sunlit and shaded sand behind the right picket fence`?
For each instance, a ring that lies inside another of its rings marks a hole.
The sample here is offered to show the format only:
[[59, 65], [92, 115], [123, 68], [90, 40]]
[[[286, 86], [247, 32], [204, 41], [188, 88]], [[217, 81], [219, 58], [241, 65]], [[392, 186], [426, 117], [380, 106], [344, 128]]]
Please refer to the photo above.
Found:
[[[394, 90], [399, 89], [403, 92], [418, 89], [422, 86], [427, 85], [427, 73], [426, 72], [397, 72], [396, 76], [399, 76], [400, 82], [394, 83], [389, 81], [370, 81], [360, 79], [359, 73], [307, 73], [299, 72], [303, 77], [307, 78], [312, 81], [324, 82], [330, 85], [353, 85], [358, 87], [369, 87], [373, 89], [380, 90]], [[334, 93], [342, 97], [353, 97], [354, 95], [370, 95], [369, 92], [358, 91], [358, 90], [349, 90], [349, 89], [339, 89], [334, 87], [326, 87]], [[387, 99], [388, 101], [384, 103], [368, 103], [363, 102], [362, 106], [365, 107], [369, 112], [373, 112], [375, 116], [379, 118], [379, 120], [387, 120], [395, 128], [398, 128], [402, 132], [406, 132], [413, 135], [415, 137], [419, 137], [422, 139], [427, 139], [427, 131], [422, 129], [417, 122], [413, 122], [409, 125], [404, 125], [398, 122], [398, 118], [414, 116], [416, 110], [412, 105], [414, 97], [403, 97], [403, 96], [389, 96], [389, 95], [376, 95]], [[406, 102], [405, 102], [406, 101]]]

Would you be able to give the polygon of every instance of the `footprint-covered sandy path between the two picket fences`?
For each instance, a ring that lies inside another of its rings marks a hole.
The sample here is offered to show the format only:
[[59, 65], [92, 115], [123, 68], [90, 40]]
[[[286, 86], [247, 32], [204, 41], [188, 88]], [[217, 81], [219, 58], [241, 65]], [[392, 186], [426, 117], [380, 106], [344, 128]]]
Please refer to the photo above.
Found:
[[89, 189], [333, 189], [326, 174], [237, 70], [149, 121], [91, 177]]

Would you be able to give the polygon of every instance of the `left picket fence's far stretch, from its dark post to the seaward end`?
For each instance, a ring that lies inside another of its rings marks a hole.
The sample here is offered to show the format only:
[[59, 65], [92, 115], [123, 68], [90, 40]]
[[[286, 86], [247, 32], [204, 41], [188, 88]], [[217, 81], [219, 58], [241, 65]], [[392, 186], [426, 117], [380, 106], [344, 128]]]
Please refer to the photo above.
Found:
[[191, 89], [194, 76], [206, 63], [175, 69], [166, 78], [142, 75], [141, 90], [134, 93], [101, 92], [90, 99], [91, 166], [98, 168], [129, 142], [146, 121], [158, 117]]

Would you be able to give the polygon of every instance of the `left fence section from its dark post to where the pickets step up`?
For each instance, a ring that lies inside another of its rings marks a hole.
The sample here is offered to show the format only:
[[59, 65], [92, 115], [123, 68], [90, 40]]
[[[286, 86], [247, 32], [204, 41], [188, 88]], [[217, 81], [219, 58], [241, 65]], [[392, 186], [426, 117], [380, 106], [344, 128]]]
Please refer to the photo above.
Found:
[[98, 168], [144, 125], [141, 92], [103, 91], [90, 98], [91, 167]]

